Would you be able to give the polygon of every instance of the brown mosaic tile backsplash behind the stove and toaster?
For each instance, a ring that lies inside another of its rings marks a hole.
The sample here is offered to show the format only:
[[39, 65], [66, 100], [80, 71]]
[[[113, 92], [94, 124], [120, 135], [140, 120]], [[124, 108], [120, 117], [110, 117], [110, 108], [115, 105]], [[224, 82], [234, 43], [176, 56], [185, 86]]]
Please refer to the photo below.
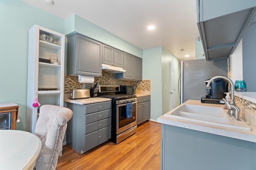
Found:
[[[78, 76], [65, 74], [65, 94], [69, 94], [71, 89], [90, 89], [92, 84], [78, 82]], [[115, 79], [115, 73], [102, 72], [101, 77], [94, 77], [94, 83], [100, 85], [125, 85], [125, 86], [136, 86], [137, 90], [150, 91], [150, 80], [119, 80]]]

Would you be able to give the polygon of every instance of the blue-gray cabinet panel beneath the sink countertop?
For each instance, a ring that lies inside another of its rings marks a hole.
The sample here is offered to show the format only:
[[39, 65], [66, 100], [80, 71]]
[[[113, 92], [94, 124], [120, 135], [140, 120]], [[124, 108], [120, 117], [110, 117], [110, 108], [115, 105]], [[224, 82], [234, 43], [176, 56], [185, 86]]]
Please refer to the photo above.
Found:
[[161, 125], [161, 170], [255, 170], [255, 143]]

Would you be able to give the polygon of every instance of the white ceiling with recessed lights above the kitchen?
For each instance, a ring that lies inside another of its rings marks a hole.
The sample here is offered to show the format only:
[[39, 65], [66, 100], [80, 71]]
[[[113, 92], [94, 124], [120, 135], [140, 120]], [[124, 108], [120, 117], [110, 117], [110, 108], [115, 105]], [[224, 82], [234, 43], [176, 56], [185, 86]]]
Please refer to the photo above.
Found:
[[76, 14], [140, 49], [162, 46], [179, 60], [195, 58], [196, 0], [22, 1], [62, 19]]

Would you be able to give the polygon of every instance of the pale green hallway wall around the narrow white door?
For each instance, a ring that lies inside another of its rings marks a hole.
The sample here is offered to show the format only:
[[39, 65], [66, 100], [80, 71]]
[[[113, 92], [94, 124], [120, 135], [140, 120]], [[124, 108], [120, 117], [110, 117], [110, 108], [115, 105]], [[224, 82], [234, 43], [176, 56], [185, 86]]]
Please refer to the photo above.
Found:
[[[170, 54], [166, 49], [162, 48], [162, 114], [170, 111], [170, 66], [169, 62], [174, 64], [174, 81], [175, 81], [175, 107], [180, 105], [178, 94], [178, 78], [179, 78], [179, 60]], [[166, 86], [166, 90], [164, 89]]]

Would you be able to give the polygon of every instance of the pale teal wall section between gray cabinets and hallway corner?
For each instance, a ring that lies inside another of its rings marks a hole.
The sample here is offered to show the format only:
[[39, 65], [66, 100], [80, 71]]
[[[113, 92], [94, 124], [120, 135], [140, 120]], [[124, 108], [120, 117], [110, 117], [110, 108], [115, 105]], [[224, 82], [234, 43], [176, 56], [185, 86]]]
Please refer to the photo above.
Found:
[[151, 83], [151, 115], [157, 120], [162, 115], [162, 47], [143, 50], [142, 79]]

